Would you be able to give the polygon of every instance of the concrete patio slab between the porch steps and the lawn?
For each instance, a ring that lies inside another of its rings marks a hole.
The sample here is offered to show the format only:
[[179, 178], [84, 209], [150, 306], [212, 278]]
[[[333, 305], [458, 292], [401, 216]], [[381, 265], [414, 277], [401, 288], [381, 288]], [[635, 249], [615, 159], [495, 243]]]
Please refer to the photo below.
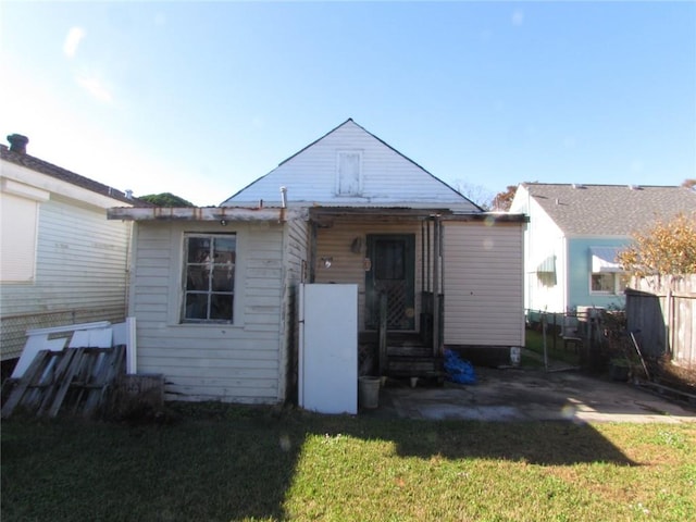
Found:
[[696, 422], [696, 408], [644, 388], [577, 371], [476, 368], [477, 383], [443, 386], [388, 380], [376, 410], [363, 414], [425, 420]]

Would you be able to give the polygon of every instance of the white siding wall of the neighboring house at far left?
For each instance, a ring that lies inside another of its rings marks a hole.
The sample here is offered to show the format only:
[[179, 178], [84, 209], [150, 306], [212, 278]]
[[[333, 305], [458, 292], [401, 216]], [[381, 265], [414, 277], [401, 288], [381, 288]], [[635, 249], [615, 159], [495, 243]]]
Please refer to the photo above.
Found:
[[3, 360], [20, 356], [27, 328], [124, 320], [130, 227], [54, 195], [39, 203], [34, 281], [0, 287]]

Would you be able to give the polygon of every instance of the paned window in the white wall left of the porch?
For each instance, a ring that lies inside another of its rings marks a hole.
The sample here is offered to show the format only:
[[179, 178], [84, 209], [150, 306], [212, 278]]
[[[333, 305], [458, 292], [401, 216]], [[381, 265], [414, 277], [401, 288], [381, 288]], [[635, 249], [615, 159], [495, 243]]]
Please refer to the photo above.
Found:
[[235, 234], [184, 236], [185, 323], [232, 323], [235, 298]]

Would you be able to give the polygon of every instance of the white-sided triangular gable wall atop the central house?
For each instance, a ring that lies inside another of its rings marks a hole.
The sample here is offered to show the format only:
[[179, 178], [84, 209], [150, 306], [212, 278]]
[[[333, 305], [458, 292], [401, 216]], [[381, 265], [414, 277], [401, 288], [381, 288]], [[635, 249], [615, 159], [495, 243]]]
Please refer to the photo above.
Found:
[[[363, 189], [359, 195], [336, 195], [339, 151], [359, 151], [361, 154]], [[282, 161], [222, 206], [253, 206], [259, 201], [268, 206], [279, 204], [281, 187], [287, 188], [290, 206], [483, 211], [352, 119]]]

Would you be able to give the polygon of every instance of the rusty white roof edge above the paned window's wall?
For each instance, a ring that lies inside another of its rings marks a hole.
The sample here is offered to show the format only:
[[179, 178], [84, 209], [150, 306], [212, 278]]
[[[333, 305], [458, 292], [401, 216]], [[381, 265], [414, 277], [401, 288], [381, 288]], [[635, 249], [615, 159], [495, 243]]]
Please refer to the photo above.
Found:
[[225, 221], [285, 222], [308, 220], [307, 209], [237, 207], [117, 207], [107, 210], [107, 219], [122, 221]]

